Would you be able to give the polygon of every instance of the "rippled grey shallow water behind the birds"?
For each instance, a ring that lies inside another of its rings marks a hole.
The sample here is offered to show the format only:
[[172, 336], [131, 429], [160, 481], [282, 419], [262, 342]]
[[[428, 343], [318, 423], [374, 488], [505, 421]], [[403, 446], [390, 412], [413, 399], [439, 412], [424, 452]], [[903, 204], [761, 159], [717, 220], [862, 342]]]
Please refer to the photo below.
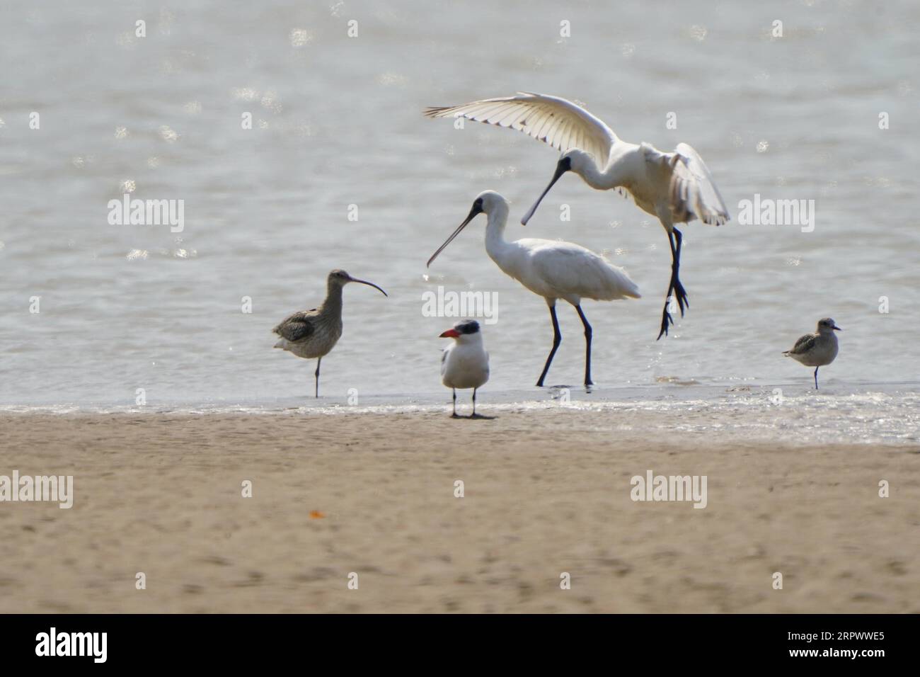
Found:
[[[913, 402], [920, 6], [420, 7], [7, 7], [0, 404], [130, 409], [143, 388], [152, 407], [313, 406], [314, 364], [272, 350], [270, 329], [314, 308], [333, 267], [390, 298], [346, 289], [345, 333], [323, 363], [328, 403], [350, 391], [379, 406], [445, 399], [437, 336], [454, 319], [422, 313], [422, 294], [438, 286], [497, 295], [483, 397], [550, 399], [531, 388], [552, 338], [546, 305], [489, 260], [484, 218], [425, 268], [480, 191], [503, 193], [519, 218], [556, 155], [523, 134], [455, 130], [420, 111], [517, 89], [579, 99], [630, 141], [692, 144], [734, 216], [684, 228], [692, 306], [658, 342], [670, 256], [652, 217], [569, 176], [527, 228], [509, 226], [509, 238], [605, 251], [637, 282], [638, 301], [584, 304], [594, 379], [617, 393], [609, 400], [658, 402], [674, 383], [807, 392], [811, 371], [780, 353], [829, 315], [845, 331], [822, 383], [826, 397], [844, 394], [814, 402], [889, 393], [877, 414]], [[145, 38], [134, 37], [139, 18]], [[770, 34], [776, 18], [781, 39]], [[559, 36], [561, 20], [571, 37]], [[184, 200], [184, 230], [110, 226], [109, 200], [126, 189]], [[739, 201], [754, 193], [815, 200], [813, 232], [740, 225]], [[581, 323], [564, 303], [559, 319], [548, 382], [575, 383]]]

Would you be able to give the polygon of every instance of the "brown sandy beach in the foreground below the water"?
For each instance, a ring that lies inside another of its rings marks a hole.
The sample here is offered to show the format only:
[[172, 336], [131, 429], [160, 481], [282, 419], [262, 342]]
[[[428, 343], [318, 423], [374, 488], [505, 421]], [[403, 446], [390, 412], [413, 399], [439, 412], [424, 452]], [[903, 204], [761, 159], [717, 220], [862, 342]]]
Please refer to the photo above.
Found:
[[[0, 612], [920, 612], [915, 446], [669, 415], [6, 414], [0, 474], [74, 506], [0, 503]], [[706, 508], [634, 502], [649, 470]]]

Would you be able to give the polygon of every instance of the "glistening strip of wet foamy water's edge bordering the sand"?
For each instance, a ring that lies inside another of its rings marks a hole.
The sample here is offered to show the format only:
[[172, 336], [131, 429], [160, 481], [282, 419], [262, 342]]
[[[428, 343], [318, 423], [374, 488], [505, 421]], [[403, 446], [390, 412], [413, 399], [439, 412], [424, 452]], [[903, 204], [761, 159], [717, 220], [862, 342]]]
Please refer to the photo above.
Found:
[[[920, 441], [920, 392], [913, 387], [828, 387], [809, 391], [785, 386], [776, 389], [742, 386], [576, 388], [545, 391], [482, 391], [481, 414], [513, 415], [571, 412], [588, 414], [599, 429], [679, 432], [708, 435], [720, 441], [776, 441], [793, 444], [894, 443]], [[542, 398], [539, 396], [543, 395]], [[567, 400], [568, 398], [568, 400]], [[467, 414], [469, 393], [458, 392], [458, 411]], [[144, 406], [92, 403], [6, 405], [0, 414], [132, 414], [132, 415], [443, 415], [450, 412], [448, 393], [367, 395], [357, 403], [346, 398], [277, 398], [261, 402], [148, 403]], [[622, 415], [636, 413], [635, 421]], [[591, 417], [591, 414], [596, 416]], [[604, 414], [614, 414], [604, 417]]]

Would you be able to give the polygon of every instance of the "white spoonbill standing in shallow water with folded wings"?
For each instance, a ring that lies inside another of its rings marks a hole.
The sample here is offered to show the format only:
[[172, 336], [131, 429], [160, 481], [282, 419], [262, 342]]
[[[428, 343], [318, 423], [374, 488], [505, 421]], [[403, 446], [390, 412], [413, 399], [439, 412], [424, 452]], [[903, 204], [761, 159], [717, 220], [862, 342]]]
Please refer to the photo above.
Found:
[[449, 237], [438, 251], [431, 255], [428, 265], [440, 254], [451, 241], [466, 228], [478, 214], [489, 216], [486, 226], [486, 251], [500, 269], [537, 296], [546, 299], [549, 315], [553, 320], [553, 348], [546, 357], [546, 366], [537, 386], [542, 386], [546, 379], [549, 365], [556, 356], [562, 333], [556, 317], [556, 300], [569, 301], [584, 325], [585, 358], [584, 384], [593, 385], [591, 380], [591, 337], [592, 329], [588, 319], [581, 311], [581, 299], [592, 298], [596, 301], [613, 301], [619, 298], [639, 298], [638, 287], [629, 279], [622, 268], [607, 263], [604, 257], [587, 250], [581, 245], [554, 239], [518, 239], [509, 242], [504, 238], [505, 225], [508, 222], [508, 201], [499, 193], [485, 191], [477, 195], [473, 208], [466, 220]]

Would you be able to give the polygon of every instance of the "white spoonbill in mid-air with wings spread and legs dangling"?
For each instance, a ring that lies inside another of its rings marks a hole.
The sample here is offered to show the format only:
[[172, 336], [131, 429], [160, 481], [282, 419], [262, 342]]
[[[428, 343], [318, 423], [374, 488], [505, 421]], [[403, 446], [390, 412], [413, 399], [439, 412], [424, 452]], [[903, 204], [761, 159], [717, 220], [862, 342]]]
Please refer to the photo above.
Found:
[[[681, 231], [674, 224], [695, 218], [720, 226], [729, 212], [709, 174], [703, 158], [692, 147], [678, 144], [673, 153], [662, 153], [647, 143], [630, 144], [581, 106], [546, 94], [519, 92], [503, 99], [484, 99], [460, 106], [429, 108], [431, 118], [462, 117], [478, 123], [510, 127], [558, 148], [562, 153], [556, 172], [527, 214], [526, 226], [540, 201], [567, 171], [574, 171], [589, 186], [600, 191], [611, 188], [632, 194], [638, 206], [658, 216], [671, 241], [671, 283], [661, 312], [661, 335], [667, 335], [673, 318], [668, 311], [674, 292], [681, 316], [689, 308], [681, 284]], [[676, 240], [676, 242], [675, 242]]]

